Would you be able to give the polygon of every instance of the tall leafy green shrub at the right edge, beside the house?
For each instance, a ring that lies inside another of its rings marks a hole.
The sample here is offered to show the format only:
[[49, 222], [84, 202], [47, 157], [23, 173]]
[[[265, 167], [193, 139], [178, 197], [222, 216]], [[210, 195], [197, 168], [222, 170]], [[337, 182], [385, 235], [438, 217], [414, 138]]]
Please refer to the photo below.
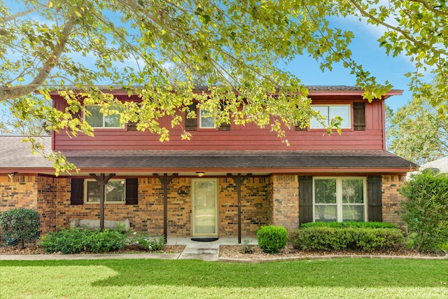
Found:
[[448, 175], [423, 171], [400, 189], [402, 219], [415, 233], [414, 248], [437, 252], [448, 239]]

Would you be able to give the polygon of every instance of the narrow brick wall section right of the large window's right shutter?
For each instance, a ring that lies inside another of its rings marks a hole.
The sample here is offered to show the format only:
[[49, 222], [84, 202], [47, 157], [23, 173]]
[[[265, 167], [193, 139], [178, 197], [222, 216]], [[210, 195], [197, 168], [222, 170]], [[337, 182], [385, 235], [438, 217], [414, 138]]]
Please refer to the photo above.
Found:
[[398, 192], [398, 189], [406, 182], [406, 175], [382, 176], [381, 178], [381, 199], [383, 222], [393, 223], [400, 228], [405, 228], [405, 222], [402, 221], [400, 215], [401, 200], [405, 200]]

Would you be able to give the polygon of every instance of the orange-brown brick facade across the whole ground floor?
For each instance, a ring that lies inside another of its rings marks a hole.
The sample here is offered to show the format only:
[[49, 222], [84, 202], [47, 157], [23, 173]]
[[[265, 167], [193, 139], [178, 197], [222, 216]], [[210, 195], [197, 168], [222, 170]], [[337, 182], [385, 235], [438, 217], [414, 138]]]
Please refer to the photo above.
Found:
[[[405, 175], [382, 176], [383, 221], [405, 225], [398, 214], [404, 198], [398, 188]], [[181, 197], [181, 186], [191, 186], [191, 178], [176, 177], [168, 185], [168, 236], [189, 237], [191, 195]], [[15, 207], [35, 209], [41, 214], [42, 232], [69, 227], [73, 218], [99, 218], [99, 204], [70, 204], [71, 179], [38, 175], [0, 175], [0, 212]], [[248, 177], [241, 185], [241, 235], [255, 237], [262, 225], [298, 227], [299, 197], [296, 175]], [[105, 204], [107, 220], [130, 219], [132, 230], [151, 235], [163, 233], [163, 186], [155, 177], [139, 178], [139, 204]], [[238, 233], [237, 184], [228, 177], [218, 178], [218, 235]]]

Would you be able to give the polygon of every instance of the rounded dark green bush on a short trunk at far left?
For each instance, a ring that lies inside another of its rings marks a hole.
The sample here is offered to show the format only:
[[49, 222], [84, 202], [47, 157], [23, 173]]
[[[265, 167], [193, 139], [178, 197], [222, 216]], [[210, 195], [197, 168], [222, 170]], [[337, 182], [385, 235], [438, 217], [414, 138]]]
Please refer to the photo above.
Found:
[[1, 229], [5, 239], [22, 240], [22, 248], [25, 241], [31, 242], [40, 237], [41, 216], [32, 209], [18, 208], [3, 211], [0, 215]]

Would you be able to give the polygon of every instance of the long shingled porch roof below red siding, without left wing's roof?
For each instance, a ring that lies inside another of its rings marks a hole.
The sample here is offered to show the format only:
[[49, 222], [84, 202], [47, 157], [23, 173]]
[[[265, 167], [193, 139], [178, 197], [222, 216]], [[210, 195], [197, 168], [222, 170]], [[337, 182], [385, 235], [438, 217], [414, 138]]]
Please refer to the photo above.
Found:
[[412, 162], [388, 151], [64, 151], [80, 169], [153, 172], [407, 172]]

